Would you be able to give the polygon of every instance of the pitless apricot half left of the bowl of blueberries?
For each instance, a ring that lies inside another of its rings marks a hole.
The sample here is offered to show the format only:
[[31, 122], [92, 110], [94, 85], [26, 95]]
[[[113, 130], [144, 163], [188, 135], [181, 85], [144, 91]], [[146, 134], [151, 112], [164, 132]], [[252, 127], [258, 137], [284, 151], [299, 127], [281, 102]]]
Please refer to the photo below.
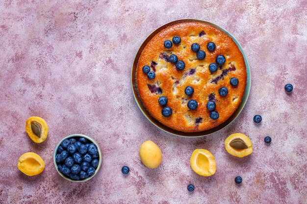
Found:
[[34, 152], [27, 152], [18, 159], [17, 167], [28, 176], [35, 176], [45, 168], [44, 160]]

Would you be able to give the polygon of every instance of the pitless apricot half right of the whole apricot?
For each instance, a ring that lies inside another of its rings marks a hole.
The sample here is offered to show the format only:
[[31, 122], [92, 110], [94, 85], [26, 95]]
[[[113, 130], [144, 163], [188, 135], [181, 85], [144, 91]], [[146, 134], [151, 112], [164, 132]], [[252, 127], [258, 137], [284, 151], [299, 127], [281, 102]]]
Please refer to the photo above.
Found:
[[208, 150], [194, 150], [190, 159], [190, 163], [193, 171], [195, 171], [195, 173], [198, 175], [208, 177], [215, 174], [215, 158]]

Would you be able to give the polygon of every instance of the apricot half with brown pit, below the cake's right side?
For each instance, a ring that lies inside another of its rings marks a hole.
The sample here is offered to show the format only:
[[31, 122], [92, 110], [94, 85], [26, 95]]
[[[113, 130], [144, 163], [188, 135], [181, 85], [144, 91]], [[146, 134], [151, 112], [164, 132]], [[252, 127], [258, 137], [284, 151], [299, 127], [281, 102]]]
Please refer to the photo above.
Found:
[[253, 152], [252, 141], [242, 133], [234, 133], [225, 139], [225, 148], [230, 155], [246, 157]]

